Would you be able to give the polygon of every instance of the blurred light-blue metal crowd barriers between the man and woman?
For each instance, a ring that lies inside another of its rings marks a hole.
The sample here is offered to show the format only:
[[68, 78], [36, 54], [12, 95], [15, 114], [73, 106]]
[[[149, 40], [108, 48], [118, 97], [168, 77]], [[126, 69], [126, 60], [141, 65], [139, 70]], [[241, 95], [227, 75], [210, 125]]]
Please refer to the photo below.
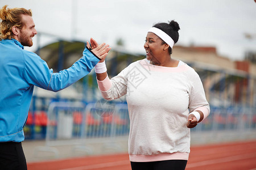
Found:
[[[106, 100], [97, 103], [53, 102], [49, 105], [46, 145], [35, 149], [52, 152], [58, 157], [57, 146], [72, 146], [70, 152], [93, 153], [90, 145], [104, 141], [104, 148], [119, 150], [116, 137], [129, 134], [129, 113], [126, 104], [111, 104]], [[127, 138], [125, 138], [127, 139]]]

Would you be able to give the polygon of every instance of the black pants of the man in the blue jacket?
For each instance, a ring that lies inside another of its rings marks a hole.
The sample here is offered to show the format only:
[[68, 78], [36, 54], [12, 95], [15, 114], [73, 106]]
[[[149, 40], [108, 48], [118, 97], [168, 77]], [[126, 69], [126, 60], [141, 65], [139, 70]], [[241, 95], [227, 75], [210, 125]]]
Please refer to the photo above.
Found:
[[27, 169], [21, 142], [0, 142], [0, 169]]

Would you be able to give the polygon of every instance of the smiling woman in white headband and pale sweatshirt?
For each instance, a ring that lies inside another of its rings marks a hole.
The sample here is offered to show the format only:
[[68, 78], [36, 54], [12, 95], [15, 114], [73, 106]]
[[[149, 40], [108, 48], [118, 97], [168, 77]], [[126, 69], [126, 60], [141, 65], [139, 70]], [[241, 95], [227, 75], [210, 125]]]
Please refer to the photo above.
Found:
[[[144, 44], [147, 58], [131, 63], [111, 80], [104, 59], [95, 67], [105, 99], [126, 95], [132, 169], [185, 169], [190, 151], [189, 128], [210, 112], [199, 75], [170, 57], [179, 29], [174, 20], [155, 24]], [[91, 44], [96, 48], [97, 42]]]

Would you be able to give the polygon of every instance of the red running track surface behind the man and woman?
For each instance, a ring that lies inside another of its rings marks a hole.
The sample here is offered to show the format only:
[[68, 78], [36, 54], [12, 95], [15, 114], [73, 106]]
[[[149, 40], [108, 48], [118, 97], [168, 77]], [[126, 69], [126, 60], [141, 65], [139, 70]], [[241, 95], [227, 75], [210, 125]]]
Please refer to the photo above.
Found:
[[[129, 155], [86, 156], [81, 158], [28, 163], [28, 170], [131, 170]], [[187, 170], [256, 170], [256, 141], [192, 146]]]

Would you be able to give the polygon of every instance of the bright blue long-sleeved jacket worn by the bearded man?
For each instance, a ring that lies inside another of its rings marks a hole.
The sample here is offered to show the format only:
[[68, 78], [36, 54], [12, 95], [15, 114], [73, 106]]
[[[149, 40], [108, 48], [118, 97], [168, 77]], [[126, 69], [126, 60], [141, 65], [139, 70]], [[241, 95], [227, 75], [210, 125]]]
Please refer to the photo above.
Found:
[[0, 142], [24, 141], [34, 86], [59, 91], [81, 79], [100, 61], [90, 49], [72, 67], [53, 73], [35, 53], [24, 50], [19, 41], [0, 41]]

